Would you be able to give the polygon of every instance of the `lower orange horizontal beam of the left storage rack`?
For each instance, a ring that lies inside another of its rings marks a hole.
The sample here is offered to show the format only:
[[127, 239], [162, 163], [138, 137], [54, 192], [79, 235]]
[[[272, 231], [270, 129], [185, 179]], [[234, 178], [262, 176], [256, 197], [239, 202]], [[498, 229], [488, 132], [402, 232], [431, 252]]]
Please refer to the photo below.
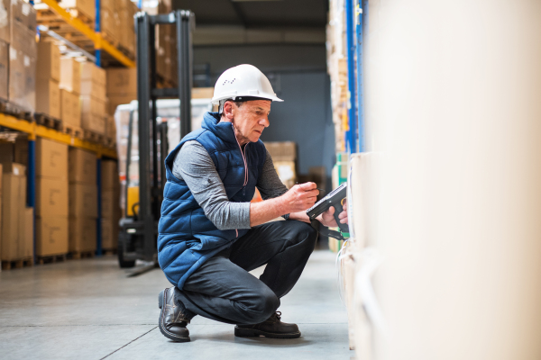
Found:
[[17, 119], [14, 116], [0, 113], [0, 126], [5, 128], [26, 132], [31, 139], [36, 137], [52, 139], [74, 148], [84, 148], [96, 153], [97, 157], [117, 158], [115, 148], [106, 148], [103, 145], [90, 142], [84, 139], [75, 138], [58, 130], [53, 130], [35, 122]]

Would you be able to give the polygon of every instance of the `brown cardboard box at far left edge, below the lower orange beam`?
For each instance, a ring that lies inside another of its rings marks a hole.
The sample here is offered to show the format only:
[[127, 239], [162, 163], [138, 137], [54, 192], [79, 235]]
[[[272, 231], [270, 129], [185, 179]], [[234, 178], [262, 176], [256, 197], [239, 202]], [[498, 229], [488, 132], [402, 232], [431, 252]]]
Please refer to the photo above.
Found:
[[[12, 171], [9, 171], [9, 168]], [[26, 176], [23, 168], [24, 166], [14, 163], [2, 166], [2, 215], [0, 216], [2, 224], [0, 257], [2, 260], [16, 260], [22, 257], [19, 244], [23, 238], [21, 222], [24, 221], [26, 206]]]

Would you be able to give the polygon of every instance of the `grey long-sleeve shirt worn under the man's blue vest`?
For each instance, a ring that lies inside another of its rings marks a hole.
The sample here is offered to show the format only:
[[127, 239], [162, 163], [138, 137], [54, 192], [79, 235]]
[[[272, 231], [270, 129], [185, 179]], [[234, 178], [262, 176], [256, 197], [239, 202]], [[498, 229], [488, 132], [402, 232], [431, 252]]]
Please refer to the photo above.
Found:
[[[216, 228], [250, 229], [250, 202], [229, 201], [222, 179], [203, 145], [195, 140], [187, 141], [175, 157], [172, 172], [188, 184], [197, 203]], [[269, 151], [256, 186], [263, 200], [288, 191], [276, 173]]]

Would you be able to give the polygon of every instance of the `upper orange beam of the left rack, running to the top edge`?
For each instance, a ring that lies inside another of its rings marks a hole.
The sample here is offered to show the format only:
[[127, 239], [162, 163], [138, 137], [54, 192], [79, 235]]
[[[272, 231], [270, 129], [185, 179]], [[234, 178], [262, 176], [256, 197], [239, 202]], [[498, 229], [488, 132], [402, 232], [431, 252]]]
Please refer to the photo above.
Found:
[[[77, 17], [71, 16], [66, 10], [60, 7], [59, 3], [55, 0], [41, 0], [42, 4], [47, 4], [50, 10], [60, 16], [60, 18], [71, 26], [73, 29], [78, 31], [85, 39], [89, 40], [93, 45], [94, 49], [103, 49], [107, 54], [112, 58], [115, 58], [118, 62], [123, 64], [125, 67], [135, 67], [135, 62], [128, 58], [122, 51], [116, 49], [109, 41], [103, 39], [100, 32], [94, 31], [86, 23], [78, 19]], [[82, 46], [81, 48], [85, 48]]]

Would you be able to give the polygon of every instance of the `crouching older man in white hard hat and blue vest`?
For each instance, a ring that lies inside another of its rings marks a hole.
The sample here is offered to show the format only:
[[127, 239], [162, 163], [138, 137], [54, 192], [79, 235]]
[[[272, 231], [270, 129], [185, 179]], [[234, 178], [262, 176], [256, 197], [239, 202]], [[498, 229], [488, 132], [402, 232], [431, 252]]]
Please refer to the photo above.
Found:
[[[159, 324], [173, 341], [189, 341], [196, 315], [236, 324], [237, 337], [300, 336], [277, 309], [316, 245], [306, 210], [318, 191], [314, 183], [288, 191], [280, 182], [260, 140], [272, 101], [282, 100], [257, 67], [226, 70], [215, 85], [219, 112], [206, 112], [202, 129], [165, 159], [158, 259], [175, 286], [160, 293]], [[264, 201], [251, 203], [256, 186]], [[336, 226], [333, 213], [318, 220]], [[286, 221], [268, 222], [280, 216]], [[265, 264], [259, 279], [248, 273]]]

